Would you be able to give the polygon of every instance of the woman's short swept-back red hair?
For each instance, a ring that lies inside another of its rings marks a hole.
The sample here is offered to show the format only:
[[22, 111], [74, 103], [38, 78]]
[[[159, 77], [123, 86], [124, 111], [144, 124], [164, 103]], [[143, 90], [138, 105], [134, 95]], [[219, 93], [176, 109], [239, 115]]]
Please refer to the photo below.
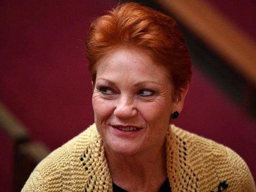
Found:
[[164, 65], [173, 85], [172, 99], [180, 99], [182, 88], [191, 80], [191, 56], [173, 18], [133, 2], [119, 4], [96, 18], [85, 45], [93, 83], [97, 61], [120, 46], [143, 48], [154, 63]]

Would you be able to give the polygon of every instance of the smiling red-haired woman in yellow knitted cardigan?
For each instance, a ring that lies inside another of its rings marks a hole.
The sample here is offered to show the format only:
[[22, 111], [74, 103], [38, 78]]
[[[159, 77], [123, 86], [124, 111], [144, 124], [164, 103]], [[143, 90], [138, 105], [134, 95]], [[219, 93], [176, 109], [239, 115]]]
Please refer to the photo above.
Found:
[[22, 191], [256, 191], [234, 151], [170, 125], [191, 78], [172, 18], [121, 4], [91, 24], [86, 53], [95, 124], [46, 157]]

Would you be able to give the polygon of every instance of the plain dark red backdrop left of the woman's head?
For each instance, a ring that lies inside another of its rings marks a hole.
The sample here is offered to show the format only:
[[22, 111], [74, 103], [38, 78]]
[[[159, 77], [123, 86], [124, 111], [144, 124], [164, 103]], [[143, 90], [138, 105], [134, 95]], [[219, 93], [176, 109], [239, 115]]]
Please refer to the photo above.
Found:
[[[1, 2], [0, 101], [51, 150], [93, 123], [84, 39], [111, 0]], [[0, 191], [11, 190], [11, 140], [0, 130]]]

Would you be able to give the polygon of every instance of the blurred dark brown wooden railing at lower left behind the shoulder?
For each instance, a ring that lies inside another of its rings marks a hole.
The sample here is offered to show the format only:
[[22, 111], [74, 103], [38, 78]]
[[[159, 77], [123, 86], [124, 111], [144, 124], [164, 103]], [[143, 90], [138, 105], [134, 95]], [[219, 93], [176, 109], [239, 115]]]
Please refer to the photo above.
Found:
[[0, 102], [0, 127], [13, 142], [13, 191], [20, 192], [35, 166], [50, 151], [40, 142], [29, 141], [28, 129]]

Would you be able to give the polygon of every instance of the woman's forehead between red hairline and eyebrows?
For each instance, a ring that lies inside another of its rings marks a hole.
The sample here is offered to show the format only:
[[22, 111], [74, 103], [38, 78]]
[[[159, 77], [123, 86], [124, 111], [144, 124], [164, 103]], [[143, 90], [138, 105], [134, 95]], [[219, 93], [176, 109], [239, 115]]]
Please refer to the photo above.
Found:
[[169, 81], [168, 70], [155, 64], [150, 55], [138, 48], [119, 48], [98, 61], [97, 76], [104, 78], [128, 77], [137, 80]]

